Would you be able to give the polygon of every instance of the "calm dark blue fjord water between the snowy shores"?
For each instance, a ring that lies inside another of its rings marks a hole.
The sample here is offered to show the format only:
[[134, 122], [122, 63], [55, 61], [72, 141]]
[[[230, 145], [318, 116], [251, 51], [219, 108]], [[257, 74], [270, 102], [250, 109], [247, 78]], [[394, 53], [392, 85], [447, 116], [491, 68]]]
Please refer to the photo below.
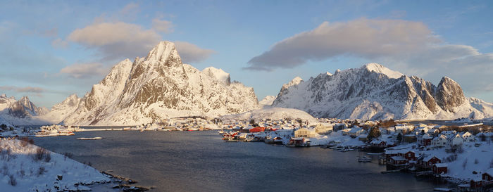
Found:
[[[75, 139], [94, 136], [104, 139]], [[376, 158], [356, 161], [362, 152], [224, 142], [216, 131], [77, 132], [35, 138], [35, 144], [156, 187], [151, 191], [432, 191], [447, 186], [412, 174], [380, 174], [385, 167]]]

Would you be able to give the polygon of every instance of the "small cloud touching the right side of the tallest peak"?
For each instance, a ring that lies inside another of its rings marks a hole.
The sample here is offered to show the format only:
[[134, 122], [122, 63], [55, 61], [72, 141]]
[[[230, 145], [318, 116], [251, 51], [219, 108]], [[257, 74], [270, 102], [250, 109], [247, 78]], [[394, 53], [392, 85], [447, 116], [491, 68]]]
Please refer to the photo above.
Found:
[[184, 41], [175, 41], [175, 46], [180, 53], [180, 57], [185, 63], [201, 62], [206, 60], [212, 53], [216, 53], [211, 49], [201, 49], [195, 44], [190, 44]]

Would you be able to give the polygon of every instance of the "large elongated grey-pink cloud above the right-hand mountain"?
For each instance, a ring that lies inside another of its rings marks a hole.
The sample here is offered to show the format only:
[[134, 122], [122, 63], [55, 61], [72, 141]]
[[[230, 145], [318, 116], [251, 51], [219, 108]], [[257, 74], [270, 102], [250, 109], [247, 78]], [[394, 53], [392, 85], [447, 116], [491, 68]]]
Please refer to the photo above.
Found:
[[361, 18], [347, 23], [324, 22], [274, 44], [272, 49], [249, 60], [249, 69], [294, 68], [308, 60], [349, 55], [365, 58], [415, 52], [437, 42], [423, 23], [406, 20]]

